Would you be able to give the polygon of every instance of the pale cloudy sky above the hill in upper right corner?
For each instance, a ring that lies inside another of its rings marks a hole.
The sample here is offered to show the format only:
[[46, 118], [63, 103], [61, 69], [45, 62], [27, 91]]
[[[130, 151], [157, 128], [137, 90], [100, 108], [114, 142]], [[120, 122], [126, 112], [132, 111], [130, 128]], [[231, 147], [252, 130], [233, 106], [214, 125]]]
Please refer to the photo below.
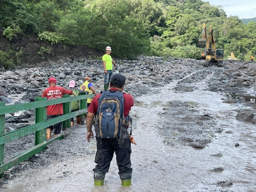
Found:
[[213, 5], [221, 5], [227, 17], [236, 15], [240, 19], [256, 17], [256, 0], [204, 0]]

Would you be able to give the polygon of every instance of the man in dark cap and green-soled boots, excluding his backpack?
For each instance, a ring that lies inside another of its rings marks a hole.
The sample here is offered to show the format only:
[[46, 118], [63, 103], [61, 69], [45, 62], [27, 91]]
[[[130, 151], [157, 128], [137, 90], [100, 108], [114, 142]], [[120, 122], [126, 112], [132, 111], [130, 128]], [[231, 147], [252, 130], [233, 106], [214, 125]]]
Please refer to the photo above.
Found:
[[[112, 76], [110, 82], [110, 91], [120, 91], [123, 92], [125, 86], [125, 76], [121, 74], [114, 74]], [[86, 140], [89, 143], [90, 138], [94, 138], [94, 134], [92, 131], [92, 122], [95, 117], [98, 105], [99, 98], [101, 93], [96, 95], [89, 108], [87, 109], [88, 114], [86, 118], [86, 126], [87, 126], [87, 135]], [[134, 99], [128, 93], [123, 94], [124, 97], [124, 116], [128, 116], [131, 107], [134, 105]], [[114, 139], [104, 139], [96, 137], [97, 141], [97, 152], [95, 156], [95, 166], [94, 171], [94, 184], [95, 185], [103, 185], [105, 174], [108, 172], [110, 167], [111, 160], [113, 158], [114, 152], [116, 153], [116, 163], [119, 169], [119, 177], [122, 180], [123, 186], [129, 186], [131, 184], [131, 141], [129, 138], [125, 139], [121, 145], [118, 143], [116, 138]]]

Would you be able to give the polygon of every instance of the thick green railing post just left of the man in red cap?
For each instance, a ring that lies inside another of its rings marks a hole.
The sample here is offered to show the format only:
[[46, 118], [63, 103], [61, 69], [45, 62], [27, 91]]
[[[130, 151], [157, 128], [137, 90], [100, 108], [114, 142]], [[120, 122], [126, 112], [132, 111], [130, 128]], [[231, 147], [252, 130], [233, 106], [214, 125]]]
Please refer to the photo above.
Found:
[[[36, 97], [35, 101], [47, 100], [46, 97]], [[35, 108], [35, 123], [47, 120], [47, 107]], [[46, 140], [46, 129], [35, 131], [35, 145], [38, 145]]]

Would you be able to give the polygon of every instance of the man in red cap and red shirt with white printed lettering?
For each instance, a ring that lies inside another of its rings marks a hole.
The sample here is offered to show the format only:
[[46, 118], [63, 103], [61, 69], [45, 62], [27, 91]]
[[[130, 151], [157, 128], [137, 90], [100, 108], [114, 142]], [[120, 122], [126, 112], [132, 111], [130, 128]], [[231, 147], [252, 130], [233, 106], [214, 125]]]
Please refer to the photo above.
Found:
[[[68, 95], [74, 95], [76, 96], [75, 93], [73, 93], [72, 90], [67, 90], [63, 87], [57, 87], [56, 83], [57, 80], [54, 77], [49, 78], [49, 86], [47, 89], [44, 90], [42, 97], [47, 97], [47, 99], [59, 99], [62, 98], [63, 95], [68, 94]], [[63, 115], [63, 104], [56, 104], [56, 105], [49, 105], [47, 106], [47, 119], [52, 119], [57, 116]], [[49, 131], [54, 130], [53, 133], [54, 135], [60, 134], [61, 133], [61, 126], [62, 122], [56, 123], [55, 125], [51, 125], [49, 128], [47, 128], [47, 139], [49, 139]]]

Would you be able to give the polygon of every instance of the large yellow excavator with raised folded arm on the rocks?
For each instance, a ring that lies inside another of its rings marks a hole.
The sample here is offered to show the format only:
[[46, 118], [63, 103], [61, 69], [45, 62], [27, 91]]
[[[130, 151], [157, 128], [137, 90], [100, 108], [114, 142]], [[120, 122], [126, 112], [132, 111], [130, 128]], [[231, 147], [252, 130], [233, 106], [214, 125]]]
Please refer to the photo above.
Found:
[[218, 65], [218, 67], [223, 67], [224, 51], [223, 49], [216, 49], [215, 47], [216, 44], [212, 26], [210, 26], [209, 34], [207, 34], [206, 24], [204, 23], [202, 38], [198, 40], [198, 46], [205, 48], [204, 67], [209, 67], [209, 65], [212, 64]]

